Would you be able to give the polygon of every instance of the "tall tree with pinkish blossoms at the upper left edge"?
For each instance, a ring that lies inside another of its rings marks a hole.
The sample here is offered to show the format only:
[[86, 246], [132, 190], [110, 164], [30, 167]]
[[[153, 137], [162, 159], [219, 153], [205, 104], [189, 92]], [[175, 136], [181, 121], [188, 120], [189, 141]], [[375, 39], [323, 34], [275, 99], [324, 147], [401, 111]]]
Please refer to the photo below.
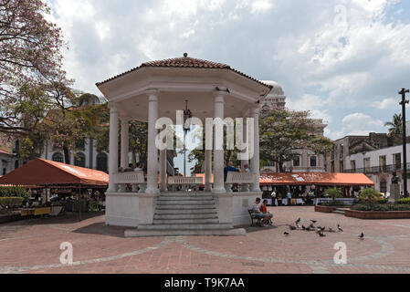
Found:
[[[0, 131], [6, 134], [26, 135], [27, 120], [42, 118], [38, 106], [47, 110], [55, 101], [64, 107], [61, 100], [69, 98], [61, 30], [47, 21], [49, 12], [41, 0], [0, 0]], [[42, 91], [41, 100], [26, 94], [30, 88]]]

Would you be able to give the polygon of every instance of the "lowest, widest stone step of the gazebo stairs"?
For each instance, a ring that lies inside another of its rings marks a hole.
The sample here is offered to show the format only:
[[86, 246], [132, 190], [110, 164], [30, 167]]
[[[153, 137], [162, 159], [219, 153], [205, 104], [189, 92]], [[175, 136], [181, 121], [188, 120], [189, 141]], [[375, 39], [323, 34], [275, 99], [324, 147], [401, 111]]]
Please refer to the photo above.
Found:
[[217, 229], [217, 230], [138, 230], [130, 229], [124, 232], [125, 237], [149, 237], [149, 236], [245, 236], [246, 230]]

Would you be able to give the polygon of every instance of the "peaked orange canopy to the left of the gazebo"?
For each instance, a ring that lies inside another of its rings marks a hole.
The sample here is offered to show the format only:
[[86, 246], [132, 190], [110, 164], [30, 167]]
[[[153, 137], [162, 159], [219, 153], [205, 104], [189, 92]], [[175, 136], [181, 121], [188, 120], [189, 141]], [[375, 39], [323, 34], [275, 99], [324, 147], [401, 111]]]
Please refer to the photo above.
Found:
[[37, 186], [108, 186], [109, 175], [37, 158], [0, 178], [0, 184]]

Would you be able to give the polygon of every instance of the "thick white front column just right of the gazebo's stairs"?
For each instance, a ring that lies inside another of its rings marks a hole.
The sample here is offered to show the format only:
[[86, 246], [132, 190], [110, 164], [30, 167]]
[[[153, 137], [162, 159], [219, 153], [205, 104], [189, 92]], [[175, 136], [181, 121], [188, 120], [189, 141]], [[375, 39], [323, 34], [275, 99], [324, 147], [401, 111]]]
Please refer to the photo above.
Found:
[[[215, 118], [220, 118], [224, 120], [224, 97], [226, 96], [223, 92], [217, 92], [215, 95], [215, 110], [214, 116]], [[214, 131], [216, 132], [216, 131]], [[216, 139], [214, 139], [215, 141]], [[215, 143], [214, 143], [215, 146]], [[216, 150], [214, 148], [214, 189], [212, 190], [213, 193], [226, 193], [225, 185], [224, 185], [224, 150]]]

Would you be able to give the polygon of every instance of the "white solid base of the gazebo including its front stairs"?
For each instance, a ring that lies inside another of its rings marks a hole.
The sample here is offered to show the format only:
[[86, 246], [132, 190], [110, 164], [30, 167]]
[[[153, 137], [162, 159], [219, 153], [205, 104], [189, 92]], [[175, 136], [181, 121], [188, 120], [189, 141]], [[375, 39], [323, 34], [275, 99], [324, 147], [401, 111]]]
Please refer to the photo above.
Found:
[[240, 234], [234, 226], [249, 224], [247, 210], [261, 194], [107, 193], [105, 221], [147, 236]]

